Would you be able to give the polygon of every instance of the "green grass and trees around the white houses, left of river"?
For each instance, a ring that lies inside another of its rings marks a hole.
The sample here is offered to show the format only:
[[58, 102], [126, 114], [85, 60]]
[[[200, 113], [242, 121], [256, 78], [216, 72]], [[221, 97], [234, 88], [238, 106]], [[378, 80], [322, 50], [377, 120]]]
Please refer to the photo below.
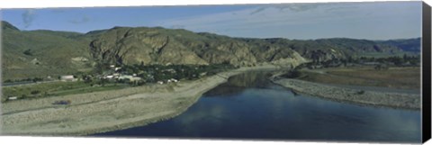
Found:
[[[16, 96], [18, 99], [29, 99], [47, 96], [82, 94], [96, 91], [121, 89], [130, 86], [141, 86], [147, 83], [156, 83], [168, 79], [176, 80], [193, 80], [200, 77], [214, 75], [221, 71], [234, 68], [229, 64], [218, 65], [124, 65], [121, 70], [115, 73], [122, 75], [136, 74], [139, 81], [130, 81], [128, 79], [104, 78], [102, 74], [77, 73], [75, 75], [80, 81], [75, 82], [46, 82], [40, 84], [31, 84], [23, 86], [3, 87], [2, 101], [8, 97]], [[114, 73], [111, 69], [102, 70], [103, 73], [111, 75]], [[31, 80], [31, 79], [29, 79]], [[40, 80], [34, 78], [33, 80]]]

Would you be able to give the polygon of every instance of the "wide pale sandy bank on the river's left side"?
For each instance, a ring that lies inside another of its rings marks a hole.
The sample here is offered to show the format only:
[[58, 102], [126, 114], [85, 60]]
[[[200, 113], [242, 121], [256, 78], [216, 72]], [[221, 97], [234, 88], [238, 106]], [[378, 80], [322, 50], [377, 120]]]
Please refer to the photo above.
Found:
[[[199, 97], [245, 71], [275, 66], [238, 68], [211, 77], [169, 85], [64, 95], [2, 104], [3, 135], [85, 135], [167, 120], [183, 113]], [[68, 105], [52, 104], [70, 100]]]

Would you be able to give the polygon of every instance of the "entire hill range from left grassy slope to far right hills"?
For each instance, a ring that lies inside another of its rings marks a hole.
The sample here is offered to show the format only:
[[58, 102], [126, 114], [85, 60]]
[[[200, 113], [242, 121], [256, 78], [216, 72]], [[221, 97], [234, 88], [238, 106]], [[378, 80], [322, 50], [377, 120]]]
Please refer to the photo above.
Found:
[[405, 50], [381, 41], [230, 38], [207, 32], [160, 27], [114, 27], [87, 33], [20, 31], [2, 22], [4, 79], [47, 77], [89, 71], [95, 64], [220, 64], [293, 67], [311, 59]]

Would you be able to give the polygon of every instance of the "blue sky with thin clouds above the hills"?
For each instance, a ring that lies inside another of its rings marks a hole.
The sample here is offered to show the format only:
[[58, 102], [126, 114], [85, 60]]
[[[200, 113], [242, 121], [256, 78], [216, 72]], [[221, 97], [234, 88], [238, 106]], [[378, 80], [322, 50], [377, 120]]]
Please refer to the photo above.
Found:
[[3, 9], [21, 30], [162, 26], [232, 37], [389, 40], [421, 35], [421, 2]]

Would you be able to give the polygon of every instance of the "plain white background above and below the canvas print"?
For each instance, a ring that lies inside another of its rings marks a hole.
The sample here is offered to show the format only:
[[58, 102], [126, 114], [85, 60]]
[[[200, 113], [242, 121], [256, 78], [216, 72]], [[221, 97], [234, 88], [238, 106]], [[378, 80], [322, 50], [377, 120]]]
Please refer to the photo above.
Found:
[[[314, 2], [366, 2], [383, 0], [0, 0], [0, 8], [43, 8], [43, 7], [85, 7], [85, 6], [128, 6], [128, 5], [221, 5], [221, 4], [269, 4], [269, 3], [314, 3]], [[401, 0], [392, 0], [401, 1]], [[432, 5], [432, 0], [425, 0]], [[1, 17], [0, 17], [1, 19]], [[114, 139], [114, 138], [72, 138], [72, 137], [0, 137], [0, 145], [15, 144], [44, 145], [135, 145], [135, 144], [178, 144], [178, 145], [238, 145], [238, 144], [360, 144], [345, 142], [307, 142], [307, 141], [261, 141], [261, 140], [162, 140], [162, 139]], [[363, 143], [362, 143], [363, 144]], [[371, 143], [364, 143], [371, 144]], [[428, 145], [432, 141], [428, 141]], [[383, 145], [383, 144], [382, 144]]]

